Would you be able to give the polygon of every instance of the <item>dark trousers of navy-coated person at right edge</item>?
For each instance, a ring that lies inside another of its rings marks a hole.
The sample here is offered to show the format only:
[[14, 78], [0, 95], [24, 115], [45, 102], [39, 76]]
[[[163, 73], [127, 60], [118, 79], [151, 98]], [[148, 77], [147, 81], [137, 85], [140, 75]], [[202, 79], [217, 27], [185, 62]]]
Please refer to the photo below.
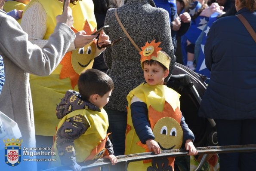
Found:
[[[256, 119], [216, 119], [220, 146], [256, 144]], [[256, 152], [219, 154], [220, 171], [256, 171]]]

